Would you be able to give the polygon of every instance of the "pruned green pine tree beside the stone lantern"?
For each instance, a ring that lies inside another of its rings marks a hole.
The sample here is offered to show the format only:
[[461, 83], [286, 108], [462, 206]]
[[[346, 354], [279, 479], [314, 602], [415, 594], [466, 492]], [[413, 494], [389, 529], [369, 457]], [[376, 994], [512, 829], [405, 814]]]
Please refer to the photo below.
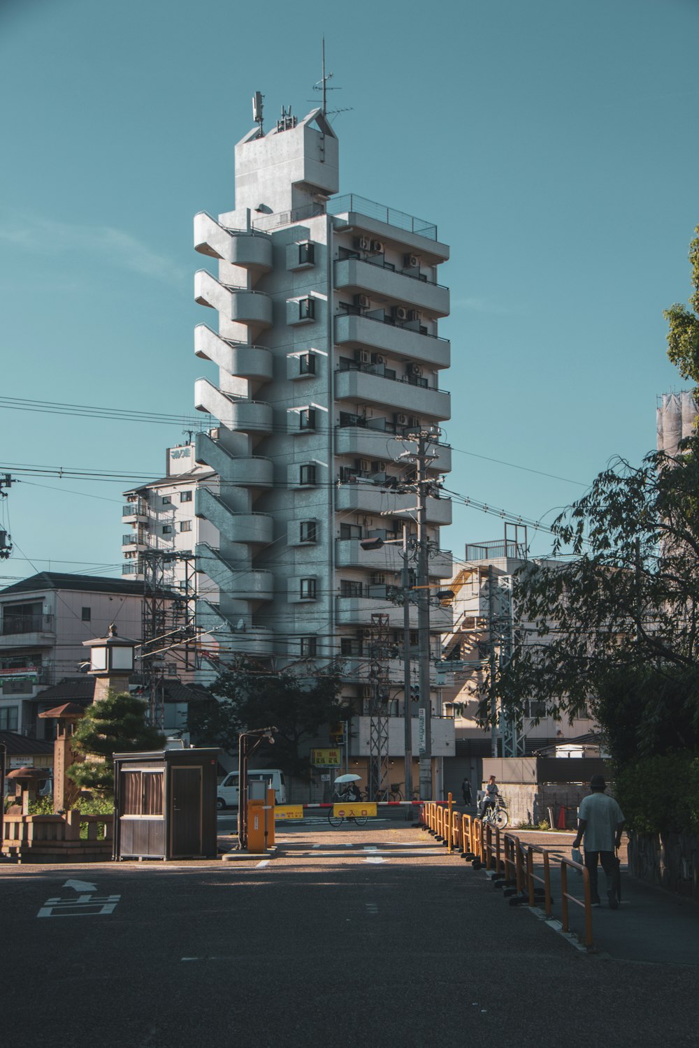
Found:
[[148, 703], [128, 692], [110, 692], [87, 707], [78, 722], [72, 747], [84, 760], [71, 764], [68, 777], [83, 789], [112, 792], [113, 754], [159, 749], [165, 737], [147, 723]]

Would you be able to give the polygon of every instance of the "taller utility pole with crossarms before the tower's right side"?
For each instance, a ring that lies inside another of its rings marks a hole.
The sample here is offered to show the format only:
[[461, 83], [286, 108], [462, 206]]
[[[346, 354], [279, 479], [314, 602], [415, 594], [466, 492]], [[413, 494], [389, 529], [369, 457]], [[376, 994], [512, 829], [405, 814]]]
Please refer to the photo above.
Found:
[[420, 799], [432, 800], [432, 699], [430, 696], [430, 584], [425, 527], [424, 434], [417, 437], [417, 637], [420, 718], [423, 742], [420, 747]]

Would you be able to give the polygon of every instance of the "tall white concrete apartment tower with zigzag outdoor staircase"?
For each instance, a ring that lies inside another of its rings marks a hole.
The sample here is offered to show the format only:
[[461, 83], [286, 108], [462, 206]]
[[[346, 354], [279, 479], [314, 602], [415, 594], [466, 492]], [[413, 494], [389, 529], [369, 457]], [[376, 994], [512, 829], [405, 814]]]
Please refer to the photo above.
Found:
[[[195, 330], [195, 352], [212, 365], [195, 403], [219, 423], [195, 440], [198, 468], [211, 472], [194, 492], [198, 625], [214, 631], [223, 660], [342, 655], [349, 694], [362, 700], [368, 630], [381, 613], [397, 703], [400, 551], [359, 541], [399, 539], [405, 521], [415, 531], [416, 444], [406, 434], [434, 427], [430, 578], [437, 587], [452, 574], [439, 543], [452, 519], [439, 483], [451, 459], [438, 438], [451, 413], [440, 389], [450, 343], [439, 334], [449, 248], [429, 222], [337, 190], [337, 138], [323, 111], [284, 115], [236, 146], [235, 210], [195, 218], [195, 247], [211, 260], [195, 278], [211, 318]], [[450, 624], [435, 607], [435, 655]]]

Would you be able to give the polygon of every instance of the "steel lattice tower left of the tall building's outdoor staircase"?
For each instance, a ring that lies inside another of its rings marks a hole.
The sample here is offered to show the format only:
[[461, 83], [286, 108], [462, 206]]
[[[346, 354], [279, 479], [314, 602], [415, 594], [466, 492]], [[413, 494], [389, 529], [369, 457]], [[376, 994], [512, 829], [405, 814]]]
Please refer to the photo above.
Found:
[[[166, 656], [176, 653], [185, 671], [194, 670], [196, 659], [195, 558], [189, 552], [147, 550], [141, 553], [144, 604], [140, 616], [140, 662], [144, 692], [148, 698], [149, 718], [154, 727], [165, 723]], [[166, 571], [175, 563], [183, 565], [179, 588], [166, 582]]]

